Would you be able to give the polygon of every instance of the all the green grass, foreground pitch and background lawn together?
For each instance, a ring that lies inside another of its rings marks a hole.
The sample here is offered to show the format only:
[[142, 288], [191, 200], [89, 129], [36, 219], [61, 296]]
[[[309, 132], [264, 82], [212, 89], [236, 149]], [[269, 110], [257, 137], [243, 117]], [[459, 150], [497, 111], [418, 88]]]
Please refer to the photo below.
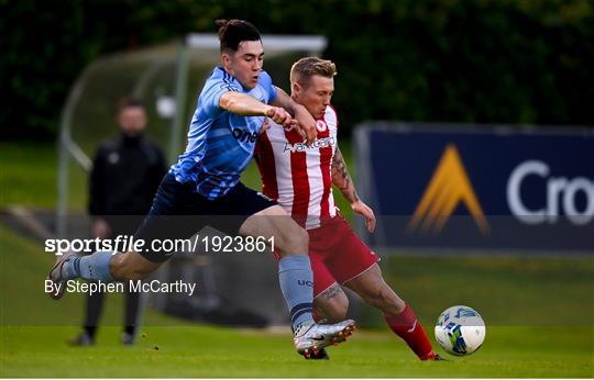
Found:
[[[350, 144], [342, 150], [350, 163]], [[0, 206], [55, 205], [53, 144], [1, 143], [0, 163]], [[74, 166], [70, 174], [69, 205], [84, 210], [86, 176]], [[260, 187], [255, 166], [243, 180]], [[359, 321], [374, 327], [331, 348], [328, 362], [302, 360], [288, 333], [197, 325], [154, 311], [145, 315], [146, 337], [122, 347], [118, 294], [108, 297], [97, 345], [72, 348], [66, 340], [78, 333], [82, 297], [55, 302], [43, 293], [52, 261], [40, 244], [0, 223], [0, 377], [594, 377], [594, 260], [588, 257], [384, 257], [387, 282], [414, 305], [431, 338], [433, 320], [452, 304], [470, 304], [485, 317], [481, 350], [451, 362], [419, 362], [369, 308]]]

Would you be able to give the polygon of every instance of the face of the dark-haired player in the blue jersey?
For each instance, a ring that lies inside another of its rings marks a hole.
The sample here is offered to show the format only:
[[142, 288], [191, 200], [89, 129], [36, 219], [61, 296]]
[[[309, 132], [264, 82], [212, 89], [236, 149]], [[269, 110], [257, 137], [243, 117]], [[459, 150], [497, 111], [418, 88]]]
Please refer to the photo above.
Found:
[[223, 54], [224, 68], [246, 89], [256, 87], [263, 64], [262, 41], [243, 41], [237, 52]]

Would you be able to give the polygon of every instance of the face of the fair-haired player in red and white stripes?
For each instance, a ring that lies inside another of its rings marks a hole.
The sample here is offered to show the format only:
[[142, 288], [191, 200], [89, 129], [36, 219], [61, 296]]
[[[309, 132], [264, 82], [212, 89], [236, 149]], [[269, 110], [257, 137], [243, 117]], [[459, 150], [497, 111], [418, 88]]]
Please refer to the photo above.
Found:
[[314, 119], [321, 119], [332, 100], [334, 79], [315, 75], [304, 86], [297, 83], [296, 87], [295, 100], [305, 105]]

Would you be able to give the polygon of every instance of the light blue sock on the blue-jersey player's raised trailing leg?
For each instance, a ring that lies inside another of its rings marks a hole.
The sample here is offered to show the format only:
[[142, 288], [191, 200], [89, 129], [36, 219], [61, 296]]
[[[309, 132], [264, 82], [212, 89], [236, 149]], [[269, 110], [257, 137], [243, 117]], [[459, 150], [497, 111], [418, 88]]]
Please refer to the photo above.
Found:
[[63, 277], [67, 280], [81, 277], [86, 280], [112, 282], [113, 278], [109, 272], [112, 256], [110, 250], [98, 250], [89, 256], [69, 259], [62, 268]]

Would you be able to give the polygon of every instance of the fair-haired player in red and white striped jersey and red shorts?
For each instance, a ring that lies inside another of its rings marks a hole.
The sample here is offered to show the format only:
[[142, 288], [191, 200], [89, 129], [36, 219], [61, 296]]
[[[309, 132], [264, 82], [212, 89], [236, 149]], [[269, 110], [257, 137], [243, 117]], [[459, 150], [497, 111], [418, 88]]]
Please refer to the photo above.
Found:
[[421, 360], [440, 359], [413, 309], [384, 281], [378, 258], [334, 205], [332, 185], [340, 189], [352, 210], [365, 217], [369, 231], [375, 230], [373, 210], [359, 198], [338, 147], [339, 118], [330, 105], [336, 74], [332, 62], [317, 57], [301, 58], [293, 65], [292, 98], [316, 119], [318, 135], [308, 146], [297, 130], [268, 121], [255, 152], [263, 193], [308, 231], [318, 318], [344, 318], [349, 300], [341, 286], [345, 286], [380, 309], [392, 331]]

